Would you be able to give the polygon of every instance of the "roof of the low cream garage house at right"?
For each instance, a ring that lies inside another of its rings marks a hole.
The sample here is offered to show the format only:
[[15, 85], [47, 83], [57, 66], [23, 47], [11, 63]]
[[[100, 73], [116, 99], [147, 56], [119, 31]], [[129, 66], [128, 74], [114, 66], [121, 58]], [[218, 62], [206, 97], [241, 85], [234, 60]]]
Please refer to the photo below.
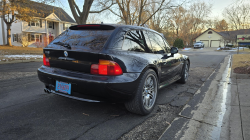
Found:
[[206, 31], [204, 31], [203, 33], [201, 33], [200, 35], [198, 35], [194, 39], [196, 39], [199, 36], [203, 35], [208, 30], [212, 30], [212, 31], [216, 32], [217, 34], [219, 34], [220, 36], [222, 36], [224, 38], [229, 38], [229, 37], [236, 36], [236, 35], [241, 35], [241, 34], [250, 34], [250, 29], [241, 29], [241, 30], [236, 30], [236, 31], [222, 31], [222, 32], [220, 32], [220, 31], [218, 31], [216, 29], [208, 28]]

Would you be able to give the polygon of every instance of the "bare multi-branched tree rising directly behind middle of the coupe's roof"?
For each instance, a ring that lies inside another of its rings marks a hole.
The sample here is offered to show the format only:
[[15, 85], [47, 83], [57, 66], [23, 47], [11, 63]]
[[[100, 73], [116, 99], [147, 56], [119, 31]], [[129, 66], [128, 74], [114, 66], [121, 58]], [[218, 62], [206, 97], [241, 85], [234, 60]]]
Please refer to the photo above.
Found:
[[117, 6], [109, 11], [125, 24], [138, 26], [149, 22], [156, 13], [173, 6], [172, 0], [116, 0], [116, 3]]

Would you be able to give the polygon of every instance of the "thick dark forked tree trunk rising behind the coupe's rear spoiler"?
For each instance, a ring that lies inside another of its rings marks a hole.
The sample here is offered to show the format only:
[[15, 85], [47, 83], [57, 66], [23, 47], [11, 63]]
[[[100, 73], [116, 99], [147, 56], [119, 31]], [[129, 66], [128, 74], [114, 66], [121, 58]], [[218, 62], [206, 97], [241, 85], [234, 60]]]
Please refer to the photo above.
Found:
[[[97, 11], [90, 11], [90, 8], [93, 4], [94, 0], [84, 0], [84, 4], [82, 7], [82, 11], [80, 10], [79, 6], [76, 4], [75, 0], [68, 0], [72, 15], [74, 19], [76, 20], [77, 24], [86, 24], [88, 16], [90, 13], [101, 13], [107, 9], [109, 9], [112, 5], [115, 4], [113, 0], [105, 0], [105, 1], [99, 1], [100, 3], [103, 3], [102, 9]], [[104, 4], [105, 3], [105, 4]], [[107, 3], [110, 3], [108, 6]]]

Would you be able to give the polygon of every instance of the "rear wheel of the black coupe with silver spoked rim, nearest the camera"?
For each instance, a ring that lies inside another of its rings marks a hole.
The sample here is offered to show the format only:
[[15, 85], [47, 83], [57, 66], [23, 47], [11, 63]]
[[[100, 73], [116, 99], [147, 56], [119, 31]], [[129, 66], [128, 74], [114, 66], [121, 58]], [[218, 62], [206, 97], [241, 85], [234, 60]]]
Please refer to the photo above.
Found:
[[[154, 87], [152, 88], [151, 85]], [[158, 77], [154, 70], [149, 69], [143, 74], [134, 98], [126, 102], [125, 107], [135, 114], [150, 114], [154, 109], [157, 94]]]

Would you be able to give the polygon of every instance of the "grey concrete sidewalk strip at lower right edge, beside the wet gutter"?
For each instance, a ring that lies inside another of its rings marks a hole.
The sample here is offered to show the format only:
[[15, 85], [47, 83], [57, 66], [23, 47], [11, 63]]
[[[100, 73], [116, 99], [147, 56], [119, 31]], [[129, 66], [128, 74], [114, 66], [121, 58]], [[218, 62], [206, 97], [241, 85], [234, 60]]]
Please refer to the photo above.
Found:
[[231, 75], [231, 114], [229, 130], [231, 140], [250, 139], [250, 75]]

